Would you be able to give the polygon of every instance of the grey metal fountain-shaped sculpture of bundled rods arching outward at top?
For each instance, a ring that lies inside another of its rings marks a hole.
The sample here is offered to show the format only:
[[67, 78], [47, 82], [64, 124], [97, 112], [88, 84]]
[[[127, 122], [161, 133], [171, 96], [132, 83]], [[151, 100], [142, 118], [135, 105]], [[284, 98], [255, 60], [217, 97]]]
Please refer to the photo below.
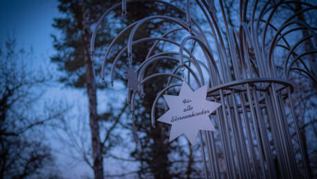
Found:
[[[122, 14], [128, 15], [126, 3], [136, 1], [146, 0], [122, 1], [101, 16], [92, 34], [92, 54], [97, 30], [105, 17], [120, 6]], [[249, 5], [249, 1], [240, 1], [240, 4], [237, 5], [240, 10], [238, 17], [240, 26], [236, 30], [229, 28], [227, 24], [223, 0], [218, 1], [220, 12], [216, 11], [213, 0], [196, 0], [209, 25], [207, 31], [210, 32], [207, 32], [192, 19], [189, 0], [187, 0], [186, 10], [166, 1], [147, 0], [147, 2], [169, 6], [177, 12], [183, 13], [186, 21], [164, 15], [145, 17], [128, 25], [110, 43], [103, 58], [101, 72], [103, 79], [105, 77], [104, 67], [108, 62], [112, 47], [119, 37], [130, 32], [127, 45], [116, 55], [112, 63], [110, 81], [113, 83], [116, 63], [122, 60], [121, 56], [127, 53], [128, 60], [132, 63], [133, 46], [154, 41], [154, 45], [147, 53], [143, 63], [133, 71], [136, 72], [138, 81], [134, 80], [133, 90], [128, 92], [127, 101], [131, 104], [131, 111], [134, 112], [136, 92], [143, 93], [143, 84], [149, 83], [152, 78], [157, 76], [165, 76], [167, 78], [166, 87], [161, 90], [152, 105], [152, 125], [155, 127], [154, 112], [159, 98], [162, 98], [163, 94], [167, 94], [169, 89], [180, 86], [181, 81], [185, 79], [184, 73], [189, 73], [194, 78], [191, 83], [195, 83], [196, 87], [209, 83], [207, 92], [209, 101], [221, 103], [221, 107], [211, 116], [212, 122], [218, 127], [217, 131], [201, 131], [199, 134], [205, 178], [310, 178], [307, 156], [303, 151], [300, 127], [294, 114], [291, 98], [294, 87], [289, 83], [288, 78], [292, 71], [297, 70], [307, 74], [317, 83], [316, 76], [309, 70], [303, 59], [304, 56], [317, 52], [317, 29], [295, 18], [298, 14], [316, 10], [317, 7], [301, 1], [276, 2], [272, 0], [261, 3], [260, 6], [258, 0], [254, 1], [252, 6]], [[294, 4], [300, 4], [303, 9], [289, 14], [289, 17], [279, 23], [279, 26], [272, 23], [274, 14], [280, 6]], [[248, 7], [252, 9], [252, 12], [247, 19]], [[222, 19], [218, 19], [216, 13], [221, 14]], [[143, 23], [156, 19], [172, 23], [179, 28], [157, 37], [134, 39], [134, 34]], [[221, 25], [225, 28], [225, 32], [221, 32]], [[169, 39], [169, 34], [181, 30], [190, 34], [183, 38], [181, 43]], [[298, 41], [289, 39], [287, 36], [292, 32], [300, 32], [300, 30], [308, 30], [309, 35]], [[269, 32], [272, 34], [272, 39], [267, 38]], [[207, 36], [212, 37], [213, 43], [207, 39]], [[300, 44], [311, 41], [311, 39], [314, 41], [314, 50], [301, 51], [301, 54], [295, 53]], [[178, 46], [179, 51], [155, 54], [154, 50], [162, 41], [168, 45]], [[187, 41], [194, 41], [194, 45], [197, 44], [201, 48], [205, 60], [198, 60], [192, 50], [185, 48]], [[225, 41], [229, 48], [225, 47]], [[293, 41], [293, 43], [289, 43], [289, 41]], [[280, 61], [274, 54], [274, 52], [278, 52], [277, 48], [287, 51], [287, 58], [283, 60], [283, 72], [276, 69], [275, 61]], [[145, 70], [150, 64], [163, 60], [175, 62], [177, 64], [175, 70], [170, 73], [145, 76]], [[181, 71], [182, 76], [176, 73], [178, 70]], [[135, 87], [136, 85], [139, 86], [139, 90]], [[293, 139], [285, 115], [285, 101], [289, 101], [297, 144], [292, 143]], [[221, 149], [216, 148], [215, 137], [220, 138]], [[300, 158], [294, 154], [294, 145], [300, 150]], [[223, 154], [222, 157], [217, 155], [219, 152]], [[220, 160], [223, 160], [225, 165], [220, 165]], [[298, 167], [298, 162], [303, 164], [303, 169]]]

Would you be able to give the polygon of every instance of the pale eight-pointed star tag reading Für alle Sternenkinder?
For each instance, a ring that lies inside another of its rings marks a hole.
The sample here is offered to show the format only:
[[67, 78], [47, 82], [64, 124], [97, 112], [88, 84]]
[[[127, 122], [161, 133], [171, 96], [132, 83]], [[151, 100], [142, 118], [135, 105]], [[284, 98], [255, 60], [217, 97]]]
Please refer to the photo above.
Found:
[[194, 145], [199, 129], [215, 130], [209, 114], [221, 104], [206, 100], [207, 88], [207, 85], [204, 85], [193, 92], [184, 81], [178, 96], [164, 95], [170, 109], [158, 120], [172, 125], [170, 141], [185, 134], [190, 143]]

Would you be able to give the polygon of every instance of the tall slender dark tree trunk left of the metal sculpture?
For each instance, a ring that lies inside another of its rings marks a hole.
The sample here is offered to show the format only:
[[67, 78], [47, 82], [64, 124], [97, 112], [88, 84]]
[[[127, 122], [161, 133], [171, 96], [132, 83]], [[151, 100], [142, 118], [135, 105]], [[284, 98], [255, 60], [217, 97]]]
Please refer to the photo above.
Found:
[[85, 44], [85, 77], [87, 92], [89, 98], [89, 117], [90, 117], [90, 131], [92, 135], [92, 157], [94, 160], [94, 178], [103, 178], [103, 156], [102, 146], [99, 136], [99, 118], [97, 114], [96, 103], [96, 85], [94, 83], [94, 72], [92, 70], [92, 61], [90, 60], [89, 44], [90, 44], [90, 24], [88, 21], [88, 12], [85, 8], [85, 1], [83, 1], [83, 43]]

